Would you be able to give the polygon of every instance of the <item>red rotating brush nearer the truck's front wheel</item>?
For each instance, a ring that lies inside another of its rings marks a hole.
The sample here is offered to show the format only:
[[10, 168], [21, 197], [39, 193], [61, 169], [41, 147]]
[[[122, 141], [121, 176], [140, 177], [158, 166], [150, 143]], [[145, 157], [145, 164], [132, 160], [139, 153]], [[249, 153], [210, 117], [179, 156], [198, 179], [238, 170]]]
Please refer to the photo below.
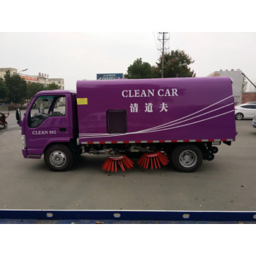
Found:
[[117, 172], [117, 164], [121, 167], [122, 171], [125, 171], [124, 166], [127, 169], [131, 169], [134, 166], [134, 162], [125, 155], [110, 156], [102, 165], [102, 170]]

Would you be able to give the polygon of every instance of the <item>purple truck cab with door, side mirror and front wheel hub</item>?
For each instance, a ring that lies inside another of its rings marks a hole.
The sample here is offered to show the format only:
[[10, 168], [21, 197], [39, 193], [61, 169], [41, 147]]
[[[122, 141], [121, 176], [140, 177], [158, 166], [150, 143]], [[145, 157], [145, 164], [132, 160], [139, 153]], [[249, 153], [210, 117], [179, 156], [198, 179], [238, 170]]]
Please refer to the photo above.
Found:
[[20, 113], [16, 117], [22, 127], [23, 156], [40, 159], [43, 154], [53, 151], [52, 164], [62, 169], [67, 156], [52, 148], [56, 144], [75, 148], [78, 137], [76, 93], [67, 90], [38, 92], [28, 105], [23, 120]]

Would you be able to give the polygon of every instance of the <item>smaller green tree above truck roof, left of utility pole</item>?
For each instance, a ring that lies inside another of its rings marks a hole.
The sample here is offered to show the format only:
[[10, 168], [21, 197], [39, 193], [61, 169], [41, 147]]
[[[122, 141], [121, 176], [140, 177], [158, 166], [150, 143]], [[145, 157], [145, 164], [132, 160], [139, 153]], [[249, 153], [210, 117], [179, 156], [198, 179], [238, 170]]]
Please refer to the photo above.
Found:
[[124, 78], [128, 79], [143, 79], [143, 78], [153, 78], [152, 67], [149, 63], [142, 62], [142, 58], [137, 58], [134, 60], [132, 65], [129, 65], [127, 69], [127, 74]]

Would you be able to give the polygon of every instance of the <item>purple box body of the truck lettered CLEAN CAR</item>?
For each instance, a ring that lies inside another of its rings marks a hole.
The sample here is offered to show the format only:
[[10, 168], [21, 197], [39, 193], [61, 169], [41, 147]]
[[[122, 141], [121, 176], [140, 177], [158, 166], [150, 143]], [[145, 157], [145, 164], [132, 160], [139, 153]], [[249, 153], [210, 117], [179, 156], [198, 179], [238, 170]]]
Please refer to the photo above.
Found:
[[[80, 144], [235, 140], [230, 78], [77, 82]], [[107, 133], [107, 110], [127, 111], [127, 132]]]

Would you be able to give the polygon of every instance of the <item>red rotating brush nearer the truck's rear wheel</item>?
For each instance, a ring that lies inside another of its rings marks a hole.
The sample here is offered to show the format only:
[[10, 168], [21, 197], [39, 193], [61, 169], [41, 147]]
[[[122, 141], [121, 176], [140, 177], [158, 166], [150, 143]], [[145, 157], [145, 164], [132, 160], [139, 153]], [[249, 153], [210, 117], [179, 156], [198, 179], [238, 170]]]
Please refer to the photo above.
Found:
[[149, 164], [151, 164], [152, 170], [154, 167], [156, 169], [161, 168], [161, 164], [166, 166], [168, 162], [168, 157], [161, 153], [161, 151], [157, 151], [155, 153], [144, 153], [137, 164], [139, 164], [139, 167], [143, 167], [144, 169], [148, 169]]

